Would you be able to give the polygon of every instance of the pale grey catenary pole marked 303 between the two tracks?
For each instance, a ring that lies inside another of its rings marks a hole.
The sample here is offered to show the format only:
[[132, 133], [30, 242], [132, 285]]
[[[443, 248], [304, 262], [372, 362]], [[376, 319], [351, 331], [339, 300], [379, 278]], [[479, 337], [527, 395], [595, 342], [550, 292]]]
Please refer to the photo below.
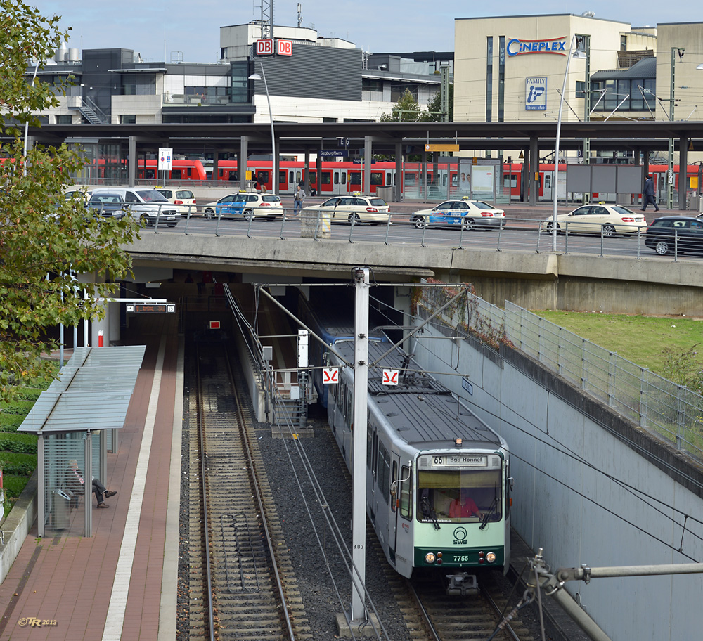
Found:
[[354, 447], [352, 469], [352, 616], [366, 621], [366, 415], [368, 413], [368, 267], [354, 269]]

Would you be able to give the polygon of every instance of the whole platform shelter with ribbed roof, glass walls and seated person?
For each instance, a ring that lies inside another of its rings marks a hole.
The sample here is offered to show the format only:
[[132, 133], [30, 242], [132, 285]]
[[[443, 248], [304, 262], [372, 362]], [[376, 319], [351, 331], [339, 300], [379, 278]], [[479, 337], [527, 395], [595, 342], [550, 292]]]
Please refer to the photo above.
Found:
[[92, 536], [91, 479], [107, 476], [146, 346], [76, 348], [18, 428], [37, 434], [38, 533]]

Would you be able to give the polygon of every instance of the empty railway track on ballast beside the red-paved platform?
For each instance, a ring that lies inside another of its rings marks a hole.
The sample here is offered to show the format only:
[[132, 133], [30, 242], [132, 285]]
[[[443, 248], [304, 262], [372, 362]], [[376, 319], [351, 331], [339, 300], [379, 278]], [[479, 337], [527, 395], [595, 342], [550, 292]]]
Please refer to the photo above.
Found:
[[188, 638], [310, 637], [242, 381], [221, 345], [191, 354]]

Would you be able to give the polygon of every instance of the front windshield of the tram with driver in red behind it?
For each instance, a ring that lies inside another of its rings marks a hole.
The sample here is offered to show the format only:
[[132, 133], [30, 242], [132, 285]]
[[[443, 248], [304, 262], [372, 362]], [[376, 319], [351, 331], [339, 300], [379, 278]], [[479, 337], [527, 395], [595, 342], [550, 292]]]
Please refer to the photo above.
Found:
[[420, 470], [421, 522], [499, 521], [503, 512], [501, 470]]

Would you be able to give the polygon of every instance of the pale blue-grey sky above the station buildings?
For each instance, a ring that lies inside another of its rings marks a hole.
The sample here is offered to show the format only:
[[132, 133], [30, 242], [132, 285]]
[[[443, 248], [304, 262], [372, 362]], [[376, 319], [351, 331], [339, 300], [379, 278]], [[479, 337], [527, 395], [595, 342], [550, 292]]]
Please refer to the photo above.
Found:
[[[44, 15], [60, 15], [72, 27], [70, 47], [122, 47], [144, 60], [212, 63], [219, 58], [219, 27], [261, 18], [260, 0], [37, 0]], [[482, 11], [477, 5], [486, 6]], [[302, 0], [302, 26], [321, 37], [352, 41], [371, 53], [385, 51], [453, 51], [454, 19], [488, 15], [595, 12], [596, 18], [629, 22], [633, 27], [657, 22], [690, 22], [692, 5], [664, 6], [653, 0], [543, 0], [530, 11], [522, 1], [496, 4], [466, 0]], [[276, 25], [297, 25], [297, 0], [273, 0]], [[510, 35], [510, 34], [508, 34]], [[517, 34], [519, 37], [519, 34]]]

